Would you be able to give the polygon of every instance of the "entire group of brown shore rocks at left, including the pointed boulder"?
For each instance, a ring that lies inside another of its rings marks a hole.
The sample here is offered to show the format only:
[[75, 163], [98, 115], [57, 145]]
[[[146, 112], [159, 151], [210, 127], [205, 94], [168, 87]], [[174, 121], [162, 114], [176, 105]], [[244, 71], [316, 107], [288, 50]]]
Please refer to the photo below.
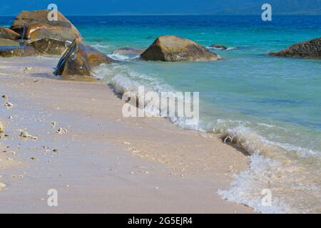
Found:
[[111, 58], [82, 42], [79, 31], [63, 14], [48, 20], [48, 10], [22, 11], [11, 28], [0, 28], [0, 57], [61, 55], [56, 75], [90, 76], [91, 68]]

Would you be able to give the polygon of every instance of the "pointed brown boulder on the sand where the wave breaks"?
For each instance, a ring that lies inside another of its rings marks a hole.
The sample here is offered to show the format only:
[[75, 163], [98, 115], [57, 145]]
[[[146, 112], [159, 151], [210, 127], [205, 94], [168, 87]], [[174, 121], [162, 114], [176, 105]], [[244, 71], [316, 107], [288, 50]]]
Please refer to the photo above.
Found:
[[93, 78], [92, 68], [101, 65], [101, 63], [111, 63], [112, 60], [104, 53], [97, 51], [95, 48], [75, 40], [63, 54], [56, 71], [57, 76], [87, 76]]

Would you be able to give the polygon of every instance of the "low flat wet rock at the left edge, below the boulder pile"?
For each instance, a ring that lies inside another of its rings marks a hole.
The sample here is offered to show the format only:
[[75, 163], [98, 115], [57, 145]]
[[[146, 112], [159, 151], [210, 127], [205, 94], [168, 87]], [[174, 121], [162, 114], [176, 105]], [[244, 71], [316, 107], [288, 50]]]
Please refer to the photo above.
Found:
[[32, 46], [0, 46], [0, 57], [26, 57], [39, 55], [39, 51], [36, 51]]

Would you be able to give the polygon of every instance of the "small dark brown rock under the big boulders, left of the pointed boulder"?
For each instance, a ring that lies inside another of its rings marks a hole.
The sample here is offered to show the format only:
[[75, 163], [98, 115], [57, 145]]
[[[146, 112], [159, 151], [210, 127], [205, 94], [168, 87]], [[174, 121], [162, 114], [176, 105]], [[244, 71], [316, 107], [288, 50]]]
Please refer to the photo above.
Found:
[[51, 38], [42, 38], [40, 40], [30, 42], [28, 46], [32, 46], [41, 54], [60, 56], [64, 51], [66, 51], [68, 46], [70, 46], [70, 43], [57, 41]]

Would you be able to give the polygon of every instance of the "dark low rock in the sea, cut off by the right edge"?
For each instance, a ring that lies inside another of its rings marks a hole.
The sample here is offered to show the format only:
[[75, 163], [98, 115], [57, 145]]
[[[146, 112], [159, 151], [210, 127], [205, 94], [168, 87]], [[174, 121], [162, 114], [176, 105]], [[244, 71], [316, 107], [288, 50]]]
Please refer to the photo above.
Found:
[[270, 56], [321, 58], [321, 37], [295, 43], [283, 51], [270, 53]]

